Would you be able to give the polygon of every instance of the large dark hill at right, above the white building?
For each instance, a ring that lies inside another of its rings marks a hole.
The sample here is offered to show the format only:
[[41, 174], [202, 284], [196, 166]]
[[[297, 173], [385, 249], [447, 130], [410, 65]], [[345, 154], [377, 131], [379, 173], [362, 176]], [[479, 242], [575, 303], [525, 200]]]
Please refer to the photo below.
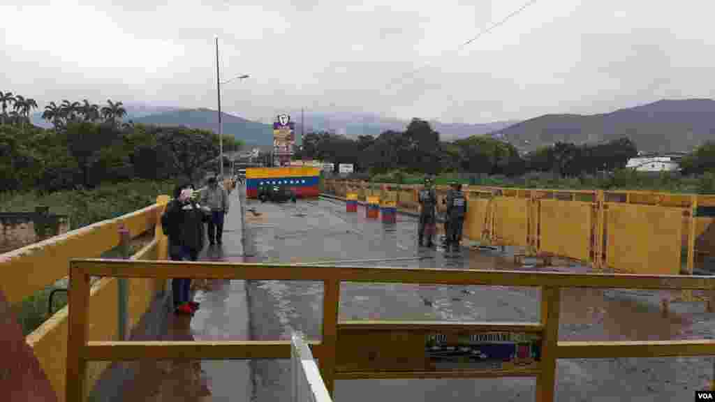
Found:
[[639, 150], [689, 152], [715, 139], [715, 100], [663, 99], [605, 114], [546, 114], [490, 135], [523, 149], [554, 142], [601, 142], [628, 137]]

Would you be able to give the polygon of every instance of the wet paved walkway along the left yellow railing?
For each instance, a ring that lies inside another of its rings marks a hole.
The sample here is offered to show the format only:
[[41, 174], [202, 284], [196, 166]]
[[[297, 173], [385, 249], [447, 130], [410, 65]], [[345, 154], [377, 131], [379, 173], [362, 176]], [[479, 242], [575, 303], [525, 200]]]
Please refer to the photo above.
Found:
[[[199, 260], [242, 261], [242, 197], [234, 190], [224, 225], [223, 245], [207, 245]], [[159, 336], [133, 340], [250, 339], [243, 280], [199, 280], [192, 284], [201, 308], [194, 317], [173, 314], [168, 303], [156, 303], [141, 326], [161, 325]], [[157, 324], [157, 322], [159, 324]], [[91, 364], [91, 363], [90, 363]], [[101, 391], [99, 391], [101, 390]], [[146, 361], [119, 363], [98, 384], [93, 401], [250, 401], [253, 393], [248, 361]]]

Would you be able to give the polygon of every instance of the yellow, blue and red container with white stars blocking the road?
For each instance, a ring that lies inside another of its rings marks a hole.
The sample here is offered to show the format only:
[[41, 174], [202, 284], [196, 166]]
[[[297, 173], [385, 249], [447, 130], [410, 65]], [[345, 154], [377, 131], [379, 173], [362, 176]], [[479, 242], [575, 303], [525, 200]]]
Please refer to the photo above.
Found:
[[258, 197], [258, 188], [264, 185], [287, 186], [296, 197], [317, 197], [317, 167], [250, 167], [246, 169], [246, 197]]

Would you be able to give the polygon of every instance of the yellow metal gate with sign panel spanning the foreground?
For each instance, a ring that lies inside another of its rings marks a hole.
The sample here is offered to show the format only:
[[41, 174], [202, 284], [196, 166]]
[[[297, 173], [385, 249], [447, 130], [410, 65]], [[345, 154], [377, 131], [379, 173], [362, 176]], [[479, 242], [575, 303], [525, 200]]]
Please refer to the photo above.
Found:
[[[548, 402], [553, 401], [556, 384], [556, 359], [558, 358], [600, 359], [715, 355], [715, 340], [706, 339], [628, 342], [558, 341], [561, 289], [563, 288], [689, 289], [713, 292], [715, 290], [715, 278], [713, 277], [355, 268], [325, 265], [297, 267], [296, 265], [179, 261], [73, 260], [70, 268], [69, 338], [66, 361], [67, 401], [84, 401], [84, 384], [87, 381], [87, 362], [89, 361], [287, 359], [291, 356], [291, 342], [280, 340], [121, 342], [89, 338], [87, 310], [89, 278], [92, 275], [155, 279], [321, 281], [324, 292], [322, 298], [322, 340], [319, 342], [308, 341], [307, 343], [320, 363], [322, 378], [331, 394], [336, 379], [536, 377], [537, 400]], [[538, 323], [338, 322], [340, 286], [343, 282], [538, 287], [541, 288], [541, 318]], [[425, 333], [445, 329], [517, 331], [536, 334], [541, 338], [538, 364], [527, 368], [507, 367], [491, 371], [470, 368], [459, 371], [430, 368], [425, 363]], [[400, 335], [395, 336], [395, 333]], [[405, 340], [405, 335], [408, 335], [407, 340]], [[375, 361], [376, 356], [377, 361]], [[388, 363], [390, 362], [398, 364], [398, 366], [389, 367]]]

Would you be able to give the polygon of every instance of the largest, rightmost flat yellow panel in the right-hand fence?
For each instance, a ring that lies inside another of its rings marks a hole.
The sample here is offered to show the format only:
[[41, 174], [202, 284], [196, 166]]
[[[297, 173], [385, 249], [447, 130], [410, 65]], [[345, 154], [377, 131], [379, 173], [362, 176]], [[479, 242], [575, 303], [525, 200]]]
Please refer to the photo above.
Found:
[[682, 215], [677, 208], [608, 204], [608, 267], [624, 273], [679, 274]]

